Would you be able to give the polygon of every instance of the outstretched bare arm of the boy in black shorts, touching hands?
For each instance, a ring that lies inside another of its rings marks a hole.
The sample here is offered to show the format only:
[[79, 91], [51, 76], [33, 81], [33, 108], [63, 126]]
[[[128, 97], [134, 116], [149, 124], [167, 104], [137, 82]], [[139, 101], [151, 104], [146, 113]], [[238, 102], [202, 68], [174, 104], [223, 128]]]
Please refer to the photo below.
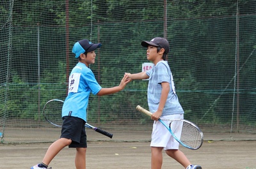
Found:
[[114, 94], [116, 92], [122, 91], [124, 89], [125, 85], [127, 85], [129, 82], [131, 82], [131, 80], [129, 79], [128, 75], [124, 75], [124, 77], [122, 78], [122, 80], [118, 86], [110, 87], [110, 88], [102, 88], [97, 93], [97, 95], [104, 96], [104, 95]]

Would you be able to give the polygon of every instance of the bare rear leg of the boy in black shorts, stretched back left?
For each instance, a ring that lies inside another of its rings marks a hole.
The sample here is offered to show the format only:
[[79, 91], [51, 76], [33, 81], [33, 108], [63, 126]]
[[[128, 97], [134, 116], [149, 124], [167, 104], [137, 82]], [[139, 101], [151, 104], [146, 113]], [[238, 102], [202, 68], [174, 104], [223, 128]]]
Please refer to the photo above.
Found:
[[49, 163], [58, 154], [58, 152], [60, 152], [61, 149], [63, 149], [67, 145], [70, 145], [71, 142], [72, 141], [67, 138], [60, 138], [59, 140], [56, 140], [56, 142], [52, 143], [48, 148], [42, 163], [44, 163], [45, 165], [49, 165]]

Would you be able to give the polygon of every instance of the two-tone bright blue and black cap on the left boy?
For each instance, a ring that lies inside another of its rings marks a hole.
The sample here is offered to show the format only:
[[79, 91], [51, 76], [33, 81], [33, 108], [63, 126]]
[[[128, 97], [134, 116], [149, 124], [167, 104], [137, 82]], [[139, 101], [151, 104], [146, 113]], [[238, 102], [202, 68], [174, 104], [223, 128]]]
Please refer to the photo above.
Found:
[[92, 43], [89, 40], [81, 40], [75, 43], [72, 52], [76, 54], [76, 58], [78, 58], [80, 54], [83, 54], [84, 52], [92, 52], [101, 46], [101, 43]]

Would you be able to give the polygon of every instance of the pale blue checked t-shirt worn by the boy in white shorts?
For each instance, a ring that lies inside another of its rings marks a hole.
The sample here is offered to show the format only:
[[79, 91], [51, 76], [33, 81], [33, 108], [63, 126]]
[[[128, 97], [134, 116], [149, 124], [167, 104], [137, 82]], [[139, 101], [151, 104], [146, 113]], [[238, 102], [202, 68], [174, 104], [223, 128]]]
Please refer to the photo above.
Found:
[[148, 70], [147, 75], [149, 76], [148, 82], [148, 107], [150, 112], [156, 112], [159, 106], [162, 82], [168, 82], [170, 85], [170, 91], [168, 98], [163, 109], [163, 115], [170, 114], [184, 114], [177, 94], [175, 92], [175, 86], [173, 82], [172, 72], [167, 61], [159, 61], [156, 66], [153, 66], [151, 70]]

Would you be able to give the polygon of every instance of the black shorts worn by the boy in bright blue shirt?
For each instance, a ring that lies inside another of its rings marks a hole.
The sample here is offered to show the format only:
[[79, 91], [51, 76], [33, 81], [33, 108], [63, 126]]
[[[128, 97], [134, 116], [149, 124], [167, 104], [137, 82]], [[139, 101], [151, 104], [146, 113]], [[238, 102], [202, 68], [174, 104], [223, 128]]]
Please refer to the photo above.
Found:
[[68, 138], [72, 143], [68, 147], [87, 147], [85, 121], [78, 117], [64, 116], [60, 138]]

